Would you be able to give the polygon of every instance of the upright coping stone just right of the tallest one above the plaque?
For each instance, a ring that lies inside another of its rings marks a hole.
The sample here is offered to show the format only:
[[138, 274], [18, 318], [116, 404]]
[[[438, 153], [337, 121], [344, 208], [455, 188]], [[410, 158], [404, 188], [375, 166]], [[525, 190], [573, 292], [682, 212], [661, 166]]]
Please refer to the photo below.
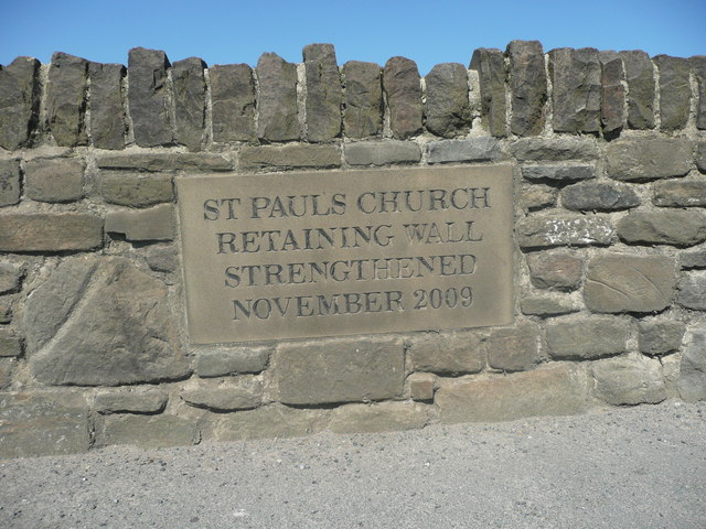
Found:
[[349, 61], [341, 71], [345, 86], [343, 130], [349, 138], [370, 138], [383, 131], [383, 85], [375, 63]]

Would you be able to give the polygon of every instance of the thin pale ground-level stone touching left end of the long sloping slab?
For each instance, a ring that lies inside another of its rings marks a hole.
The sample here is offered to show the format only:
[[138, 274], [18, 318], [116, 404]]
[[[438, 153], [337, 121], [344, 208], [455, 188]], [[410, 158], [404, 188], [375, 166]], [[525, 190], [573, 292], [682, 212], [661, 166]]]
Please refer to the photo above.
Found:
[[331, 413], [329, 430], [335, 433], [415, 430], [427, 423], [426, 408], [416, 402], [341, 406]]

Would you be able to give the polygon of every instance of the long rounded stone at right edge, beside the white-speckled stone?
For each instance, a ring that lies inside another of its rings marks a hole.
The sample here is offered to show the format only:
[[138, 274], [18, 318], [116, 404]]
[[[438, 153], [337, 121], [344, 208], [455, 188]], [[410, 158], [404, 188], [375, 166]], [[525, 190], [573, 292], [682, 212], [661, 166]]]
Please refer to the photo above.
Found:
[[618, 220], [625, 242], [694, 246], [706, 240], [706, 215], [700, 212], [635, 212]]

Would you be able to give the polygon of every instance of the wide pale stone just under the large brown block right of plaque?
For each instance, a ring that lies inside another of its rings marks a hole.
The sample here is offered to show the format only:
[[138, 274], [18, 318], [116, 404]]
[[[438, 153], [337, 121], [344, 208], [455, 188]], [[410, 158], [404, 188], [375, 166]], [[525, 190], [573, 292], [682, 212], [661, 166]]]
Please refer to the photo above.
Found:
[[555, 360], [589, 360], [624, 353], [629, 331], [620, 320], [588, 316], [547, 323], [547, 348]]

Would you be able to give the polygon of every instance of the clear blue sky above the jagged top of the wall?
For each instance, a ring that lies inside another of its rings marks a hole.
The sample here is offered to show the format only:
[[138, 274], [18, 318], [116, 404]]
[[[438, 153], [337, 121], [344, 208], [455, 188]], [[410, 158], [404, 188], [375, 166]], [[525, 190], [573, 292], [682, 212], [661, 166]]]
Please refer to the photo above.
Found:
[[313, 42], [335, 45], [339, 64], [395, 55], [468, 65], [477, 47], [514, 39], [554, 47], [706, 54], [706, 0], [0, 0], [0, 64], [62, 51], [127, 64], [128, 50], [164, 50], [170, 61], [255, 65], [264, 52], [300, 62]]

